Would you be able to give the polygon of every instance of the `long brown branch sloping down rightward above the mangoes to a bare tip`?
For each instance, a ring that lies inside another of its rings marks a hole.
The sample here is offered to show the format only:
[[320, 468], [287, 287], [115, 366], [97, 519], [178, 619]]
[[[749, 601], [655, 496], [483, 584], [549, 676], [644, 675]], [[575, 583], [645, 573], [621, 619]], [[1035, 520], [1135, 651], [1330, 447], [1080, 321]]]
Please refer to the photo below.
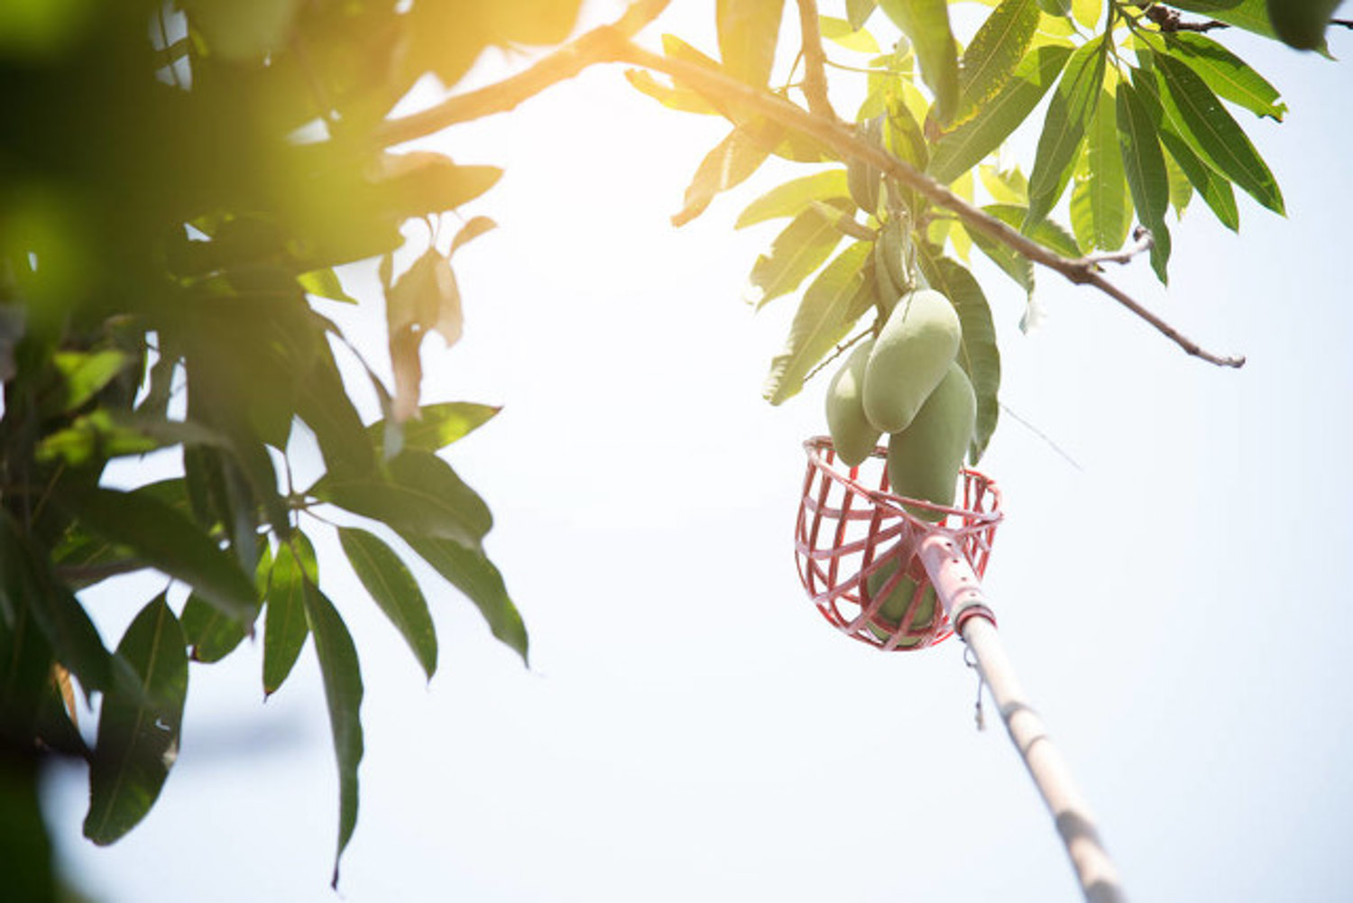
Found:
[[635, 46], [628, 41], [620, 41], [617, 43], [620, 43], [620, 46], [612, 47], [607, 54], [617, 61], [662, 72], [676, 81], [689, 84], [701, 93], [714, 95], [736, 102], [737, 104], [754, 110], [759, 115], [763, 115], [787, 129], [793, 129], [794, 131], [815, 138], [827, 148], [832, 149], [836, 154], [874, 167], [940, 207], [954, 211], [969, 229], [980, 232], [989, 238], [1001, 242], [1036, 264], [1059, 272], [1076, 284], [1095, 286], [1109, 298], [1127, 307], [1131, 313], [1154, 326], [1161, 334], [1177, 344], [1187, 353], [1193, 355], [1195, 357], [1201, 357], [1203, 360], [1220, 367], [1241, 367], [1245, 363], [1243, 356], [1215, 355], [1180, 333], [1124, 291], [1104, 279], [1093, 260], [1072, 260], [1062, 257], [1036, 241], [1032, 241], [1019, 230], [1005, 225], [996, 217], [992, 217], [980, 207], [959, 198], [946, 185], [942, 185], [907, 162], [902, 162], [882, 148], [863, 141], [855, 134], [855, 130], [848, 123], [842, 122], [835, 116], [828, 118], [808, 112], [806, 110], [796, 107], [782, 97], [763, 91], [756, 91], [755, 88], [729, 79], [728, 76], [708, 66], [695, 65], [685, 60], [662, 57], [655, 53], [649, 53], [643, 47]]

